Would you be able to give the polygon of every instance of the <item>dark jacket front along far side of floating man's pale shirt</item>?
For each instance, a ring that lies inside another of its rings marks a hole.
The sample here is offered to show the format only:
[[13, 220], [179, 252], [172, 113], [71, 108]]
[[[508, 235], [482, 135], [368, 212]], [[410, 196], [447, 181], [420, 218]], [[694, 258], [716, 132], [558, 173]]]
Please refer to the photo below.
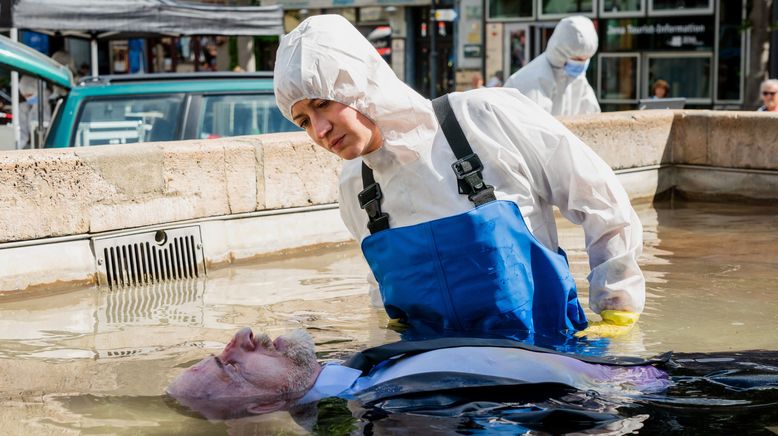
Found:
[[669, 360], [672, 353], [664, 353], [650, 359], [630, 356], [582, 356], [578, 354], [562, 353], [548, 348], [527, 345], [523, 342], [513, 339], [502, 338], [467, 338], [467, 337], [446, 337], [429, 339], [422, 341], [399, 341], [391, 344], [380, 345], [378, 347], [368, 348], [362, 352], [356, 353], [343, 365], [362, 371], [362, 374], [368, 374], [379, 363], [385, 362], [398, 356], [412, 356], [427, 351], [441, 350], [444, 348], [456, 347], [496, 347], [496, 348], [518, 348], [536, 353], [558, 354], [571, 357], [586, 363], [596, 363], [600, 365], [615, 366], [638, 366], [638, 365], [656, 365]]

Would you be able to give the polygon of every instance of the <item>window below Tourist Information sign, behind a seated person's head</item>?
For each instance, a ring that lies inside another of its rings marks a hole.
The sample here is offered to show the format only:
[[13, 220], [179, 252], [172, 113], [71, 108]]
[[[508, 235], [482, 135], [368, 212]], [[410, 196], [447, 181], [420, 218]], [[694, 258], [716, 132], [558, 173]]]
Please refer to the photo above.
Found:
[[655, 81], [670, 84], [669, 97], [683, 97], [689, 103], [711, 102], [711, 54], [672, 53], [648, 56], [645, 95]]

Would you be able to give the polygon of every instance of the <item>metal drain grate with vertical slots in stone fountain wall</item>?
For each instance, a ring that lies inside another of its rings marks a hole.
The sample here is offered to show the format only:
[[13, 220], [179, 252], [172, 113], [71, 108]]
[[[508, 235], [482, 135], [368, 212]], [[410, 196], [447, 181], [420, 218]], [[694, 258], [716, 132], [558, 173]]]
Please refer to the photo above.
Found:
[[93, 238], [97, 279], [111, 288], [205, 275], [200, 227]]

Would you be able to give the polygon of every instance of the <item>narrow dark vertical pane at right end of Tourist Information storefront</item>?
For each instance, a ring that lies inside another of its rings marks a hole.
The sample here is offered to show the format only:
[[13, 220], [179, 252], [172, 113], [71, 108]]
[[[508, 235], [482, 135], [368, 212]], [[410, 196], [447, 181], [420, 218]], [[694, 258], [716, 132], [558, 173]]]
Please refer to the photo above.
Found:
[[745, 19], [744, 14], [743, 2], [728, 1], [718, 4], [717, 102], [743, 102], [745, 34], [741, 31], [740, 24]]

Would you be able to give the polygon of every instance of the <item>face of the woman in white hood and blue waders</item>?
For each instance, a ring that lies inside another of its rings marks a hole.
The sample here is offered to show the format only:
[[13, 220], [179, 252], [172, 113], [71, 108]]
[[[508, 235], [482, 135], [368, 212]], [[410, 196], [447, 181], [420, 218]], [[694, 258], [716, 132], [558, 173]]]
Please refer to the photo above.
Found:
[[300, 100], [292, 106], [292, 119], [313, 142], [346, 160], [364, 156], [383, 144], [373, 121], [333, 100]]

